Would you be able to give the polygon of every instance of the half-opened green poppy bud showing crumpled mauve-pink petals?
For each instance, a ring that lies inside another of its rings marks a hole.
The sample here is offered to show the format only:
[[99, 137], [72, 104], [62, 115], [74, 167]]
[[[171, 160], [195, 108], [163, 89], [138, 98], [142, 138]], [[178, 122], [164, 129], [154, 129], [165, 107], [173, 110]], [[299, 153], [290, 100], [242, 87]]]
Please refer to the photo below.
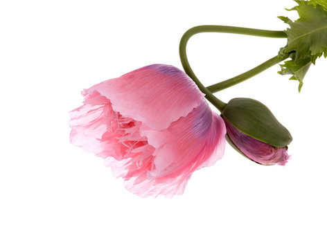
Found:
[[222, 111], [227, 141], [238, 152], [262, 165], [285, 165], [292, 136], [261, 102], [234, 98]]

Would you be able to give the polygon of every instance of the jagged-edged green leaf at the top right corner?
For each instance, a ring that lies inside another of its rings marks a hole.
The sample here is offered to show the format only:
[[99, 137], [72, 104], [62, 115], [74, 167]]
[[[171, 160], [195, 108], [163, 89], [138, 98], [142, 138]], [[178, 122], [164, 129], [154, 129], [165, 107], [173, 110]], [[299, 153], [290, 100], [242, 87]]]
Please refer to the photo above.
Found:
[[327, 56], [327, 0], [296, 1], [299, 19], [292, 21], [288, 17], [279, 17], [290, 28], [285, 30], [288, 44], [281, 48], [280, 55], [289, 54], [291, 60], [281, 65], [282, 75], [293, 75], [290, 80], [299, 80], [299, 91], [303, 78], [311, 64], [321, 55]]

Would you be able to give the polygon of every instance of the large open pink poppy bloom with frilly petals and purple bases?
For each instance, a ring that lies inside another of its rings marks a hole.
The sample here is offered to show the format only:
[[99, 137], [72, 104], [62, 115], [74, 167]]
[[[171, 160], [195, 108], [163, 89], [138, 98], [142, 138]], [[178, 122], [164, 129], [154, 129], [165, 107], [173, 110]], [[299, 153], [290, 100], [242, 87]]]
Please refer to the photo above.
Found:
[[145, 66], [82, 95], [70, 112], [71, 142], [105, 158], [134, 194], [183, 194], [196, 169], [224, 154], [224, 121], [174, 66]]

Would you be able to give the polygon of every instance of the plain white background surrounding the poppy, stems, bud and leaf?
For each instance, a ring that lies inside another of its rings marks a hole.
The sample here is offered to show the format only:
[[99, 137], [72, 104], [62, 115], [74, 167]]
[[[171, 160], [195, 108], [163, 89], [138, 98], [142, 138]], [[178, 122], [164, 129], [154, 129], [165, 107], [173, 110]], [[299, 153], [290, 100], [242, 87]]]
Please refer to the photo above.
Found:
[[[273, 66], [217, 96], [256, 98], [294, 138], [285, 166], [229, 145], [182, 196], [141, 199], [103, 160], [69, 143], [84, 88], [179, 62], [192, 26], [284, 30], [290, 0], [1, 1], [0, 248], [327, 248], [326, 59], [297, 82]], [[207, 86], [242, 73], [285, 39], [203, 34], [188, 55]]]

